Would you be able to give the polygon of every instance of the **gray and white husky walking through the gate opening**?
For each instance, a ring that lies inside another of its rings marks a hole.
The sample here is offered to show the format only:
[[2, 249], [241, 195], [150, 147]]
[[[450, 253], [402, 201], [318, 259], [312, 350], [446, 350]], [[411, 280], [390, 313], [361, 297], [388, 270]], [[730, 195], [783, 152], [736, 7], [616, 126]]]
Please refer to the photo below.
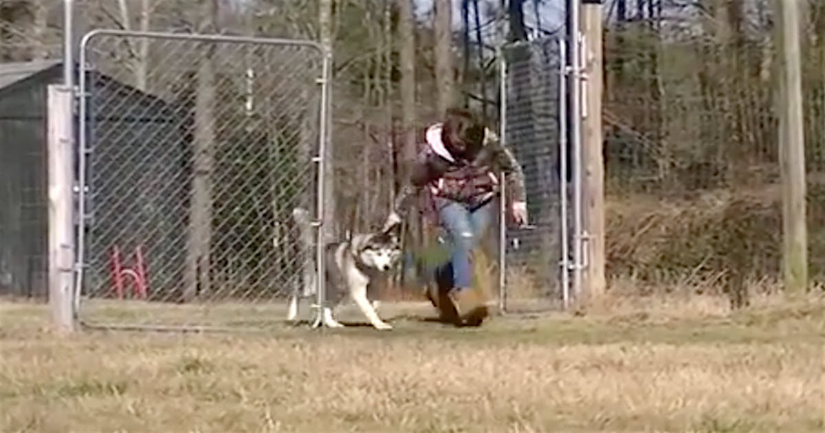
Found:
[[[299, 225], [304, 242], [311, 242], [307, 236], [311, 221], [306, 209], [295, 208], [292, 211], [295, 223]], [[389, 323], [384, 322], [375, 312], [378, 302], [370, 302], [367, 289], [375, 283], [375, 279], [390, 271], [398, 258], [401, 257], [401, 242], [398, 239], [396, 224], [384, 232], [358, 233], [348, 236], [341, 242], [331, 242], [324, 247], [326, 263], [326, 303], [323, 305], [323, 323], [328, 327], [343, 327], [341, 322], [332, 318], [333, 310], [341, 303], [346, 294], [361, 309], [375, 329], [392, 329]], [[305, 250], [310, 245], [304, 245]], [[304, 279], [314, 285], [314, 272], [304, 270]], [[288, 320], [298, 316], [299, 287], [295, 288], [290, 298]], [[304, 290], [305, 292], [306, 290]]]

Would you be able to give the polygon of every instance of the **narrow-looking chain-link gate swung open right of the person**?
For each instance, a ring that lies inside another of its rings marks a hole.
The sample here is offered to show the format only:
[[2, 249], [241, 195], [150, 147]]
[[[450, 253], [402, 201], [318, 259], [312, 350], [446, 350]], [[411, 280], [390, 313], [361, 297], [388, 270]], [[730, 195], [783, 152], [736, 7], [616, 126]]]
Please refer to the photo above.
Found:
[[530, 226], [499, 224], [499, 308], [533, 313], [570, 299], [568, 159], [564, 39], [504, 45], [499, 54], [501, 136], [525, 174]]

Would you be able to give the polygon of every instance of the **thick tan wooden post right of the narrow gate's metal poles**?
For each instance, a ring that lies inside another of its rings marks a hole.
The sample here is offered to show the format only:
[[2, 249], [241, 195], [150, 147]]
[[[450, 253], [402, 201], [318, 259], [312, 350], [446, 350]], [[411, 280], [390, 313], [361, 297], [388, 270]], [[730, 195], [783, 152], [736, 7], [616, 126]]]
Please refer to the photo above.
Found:
[[582, 273], [582, 288], [592, 306], [601, 303], [605, 294], [605, 189], [604, 159], [602, 158], [601, 98], [602, 83], [602, 26], [601, 0], [582, 0], [582, 34], [584, 35], [584, 64], [586, 90], [582, 94], [582, 164], [584, 164], [584, 229], [587, 249], [584, 252], [587, 267]]

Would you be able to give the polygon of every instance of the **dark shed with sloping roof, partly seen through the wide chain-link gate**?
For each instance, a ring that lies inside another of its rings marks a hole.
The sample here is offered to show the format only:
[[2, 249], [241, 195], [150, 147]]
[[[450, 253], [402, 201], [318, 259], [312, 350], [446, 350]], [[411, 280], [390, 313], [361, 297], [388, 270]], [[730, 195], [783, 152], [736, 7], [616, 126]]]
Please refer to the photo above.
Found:
[[[46, 90], [48, 85], [62, 82], [61, 72], [59, 61], [0, 64], [0, 294], [45, 296], [47, 293]], [[88, 173], [87, 215], [91, 218], [87, 221], [87, 246], [92, 239], [95, 248], [87, 249], [90, 274], [87, 276], [108, 280], [109, 247], [117, 245], [125, 258], [130, 257], [134, 248], [134, 242], [130, 241], [134, 241], [137, 234], [142, 246], [151, 250], [154, 243], [168, 242], [164, 228], [186, 219], [186, 215], [181, 215], [180, 206], [169, 205], [174, 195], [186, 191], [183, 180], [186, 176], [176, 181], [168, 179], [168, 173], [186, 172], [188, 139], [181, 130], [185, 122], [180, 115], [174, 115], [180, 112], [175, 104], [102, 74], [90, 73], [87, 80], [87, 89], [97, 98], [97, 103], [90, 104], [88, 111], [87, 123], [94, 125], [87, 128], [91, 135], [88, 144], [93, 152], [89, 167], [108, 167], [95, 162], [116, 160], [118, 155], [130, 150], [167, 155], [131, 164], [126, 171], [139, 172], [140, 176], [130, 176], [126, 181], [122, 171], [102, 169]], [[132, 113], [141, 115], [121, 115], [122, 107], [134, 107]], [[107, 129], [152, 138], [101, 134]], [[125, 149], [124, 143], [139, 144], [140, 148]], [[113, 200], [115, 197], [129, 197], [129, 200], [124, 203]], [[96, 213], [97, 204], [115, 205], [118, 209]], [[118, 212], [146, 213], [144, 224], [140, 228], [123, 227], [117, 220]], [[147, 227], [155, 229], [148, 237], [141, 237]], [[170, 266], [171, 269], [181, 267]], [[176, 277], [150, 274], [149, 284], [153, 278], [168, 281]], [[109, 284], [101, 281], [100, 285]]]

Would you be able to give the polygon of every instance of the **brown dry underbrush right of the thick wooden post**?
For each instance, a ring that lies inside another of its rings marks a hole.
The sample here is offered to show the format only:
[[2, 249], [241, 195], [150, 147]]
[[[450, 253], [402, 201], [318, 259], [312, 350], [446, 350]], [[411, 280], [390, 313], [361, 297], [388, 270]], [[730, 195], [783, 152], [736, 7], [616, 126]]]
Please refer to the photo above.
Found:
[[[735, 279], [781, 279], [778, 185], [705, 191], [691, 197], [608, 197], [607, 275], [634, 285], [728, 290]], [[811, 280], [825, 281], [825, 186], [808, 187]]]

